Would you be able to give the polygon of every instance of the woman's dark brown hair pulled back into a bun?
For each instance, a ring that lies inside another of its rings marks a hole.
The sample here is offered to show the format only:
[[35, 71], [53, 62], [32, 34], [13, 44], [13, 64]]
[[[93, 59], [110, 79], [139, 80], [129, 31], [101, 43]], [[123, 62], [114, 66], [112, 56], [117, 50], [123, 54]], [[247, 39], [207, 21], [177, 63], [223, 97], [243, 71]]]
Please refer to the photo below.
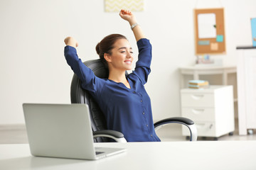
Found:
[[107, 37], [103, 38], [97, 45], [96, 51], [97, 54], [100, 56], [100, 60], [107, 66], [107, 61], [104, 58], [104, 54], [107, 53], [112, 55], [112, 49], [114, 48], [114, 43], [119, 39], [126, 39], [124, 35], [121, 34], [111, 34], [107, 35]]

